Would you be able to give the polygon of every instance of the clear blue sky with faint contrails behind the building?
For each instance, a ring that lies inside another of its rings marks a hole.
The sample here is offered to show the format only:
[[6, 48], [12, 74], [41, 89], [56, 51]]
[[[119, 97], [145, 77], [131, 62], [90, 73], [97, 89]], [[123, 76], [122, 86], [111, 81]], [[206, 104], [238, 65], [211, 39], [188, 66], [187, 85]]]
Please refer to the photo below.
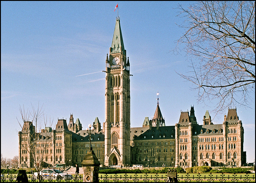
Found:
[[[185, 53], [173, 54], [184, 30], [177, 24], [178, 4], [192, 2], [119, 2], [124, 47], [130, 60], [131, 127], [154, 115], [156, 93], [166, 125], [175, 125], [180, 111], [190, 110], [202, 124], [214, 102], [197, 102], [197, 91], [176, 73], [188, 71]], [[117, 2], [1, 2], [1, 153], [18, 155], [19, 106], [43, 104], [54, 119], [80, 119], [83, 129], [98, 117], [104, 122], [106, 54], [112, 43]], [[182, 48], [182, 45], [180, 45]], [[93, 74], [90, 74], [93, 73]], [[84, 75], [89, 74], [89, 75]], [[83, 75], [83, 76], [78, 76]], [[78, 77], [76, 77], [78, 76]], [[255, 96], [252, 96], [255, 99]], [[254, 100], [255, 101], [255, 100]], [[236, 106], [234, 106], [236, 107]], [[237, 108], [244, 126], [247, 160], [255, 156], [255, 102]], [[52, 126], [55, 128], [55, 126]], [[10, 145], [11, 144], [11, 145]]]

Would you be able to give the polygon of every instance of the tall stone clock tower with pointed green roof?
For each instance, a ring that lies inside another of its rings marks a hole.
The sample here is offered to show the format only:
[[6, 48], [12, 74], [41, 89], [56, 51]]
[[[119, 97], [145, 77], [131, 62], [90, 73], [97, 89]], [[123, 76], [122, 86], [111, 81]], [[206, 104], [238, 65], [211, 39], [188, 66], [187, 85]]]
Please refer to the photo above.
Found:
[[105, 165], [130, 164], [130, 63], [120, 27], [120, 17], [106, 58]]

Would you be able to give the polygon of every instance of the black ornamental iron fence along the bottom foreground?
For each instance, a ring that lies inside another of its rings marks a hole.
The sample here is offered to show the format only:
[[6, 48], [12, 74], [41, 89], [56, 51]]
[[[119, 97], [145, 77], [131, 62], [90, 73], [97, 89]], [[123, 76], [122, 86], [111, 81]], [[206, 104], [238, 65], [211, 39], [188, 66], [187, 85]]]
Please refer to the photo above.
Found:
[[[38, 177], [28, 175], [29, 182], [39, 182]], [[16, 182], [17, 175], [1, 175], [1, 182]], [[99, 176], [99, 182], [166, 182], [168, 179], [166, 174], [104, 174]], [[178, 174], [178, 182], [255, 182], [255, 174]], [[40, 182], [83, 182], [83, 177], [73, 176], [72, 179], [63, 177], [56, 179], [54, 176], [41, 177]]]

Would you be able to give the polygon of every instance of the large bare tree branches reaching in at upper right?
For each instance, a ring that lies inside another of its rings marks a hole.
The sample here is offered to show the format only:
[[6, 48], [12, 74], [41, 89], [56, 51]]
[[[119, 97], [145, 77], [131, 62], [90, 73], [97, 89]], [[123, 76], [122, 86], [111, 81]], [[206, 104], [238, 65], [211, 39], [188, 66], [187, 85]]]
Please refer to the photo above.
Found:
[[255, 2], [196, 2], [179, 10], [186, 31], [177, 45], [185, 44], [192, 56], [191, 70], [179, 75], [193, 83], [199, 102], [217, 101], [216, 111], [249, 106], [255, 94]]

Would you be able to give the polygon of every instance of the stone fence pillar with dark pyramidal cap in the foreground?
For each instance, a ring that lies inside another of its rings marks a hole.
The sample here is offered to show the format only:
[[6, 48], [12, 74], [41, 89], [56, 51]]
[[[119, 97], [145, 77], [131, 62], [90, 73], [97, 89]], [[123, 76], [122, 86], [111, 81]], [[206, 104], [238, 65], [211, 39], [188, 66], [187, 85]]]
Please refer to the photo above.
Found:
[[84, 179], [83, 182], [98, 182], [99, 181], [99, 167], [100, 162], [93, 152], [92, 148], [85, 155], [84, 160], [81, 163]]

